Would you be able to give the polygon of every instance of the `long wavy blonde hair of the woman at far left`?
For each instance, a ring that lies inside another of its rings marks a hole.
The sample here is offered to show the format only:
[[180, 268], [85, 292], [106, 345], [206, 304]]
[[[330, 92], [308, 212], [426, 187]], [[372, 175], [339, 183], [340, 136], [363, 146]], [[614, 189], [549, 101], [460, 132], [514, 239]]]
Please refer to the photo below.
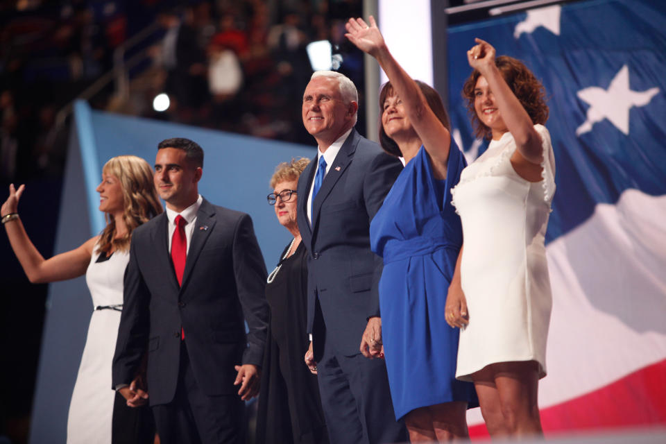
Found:
[[127, 233], [123, 237], [114, 239], [116, 222], [108, 213], [105, 214], [106, 227], [99, 236], [99, 251], [108, 255], [115, 250], [129, 250], [134, 229], [162, 213], [162, 204], [153, 184], [153, 169], [141, 157], [135, 155], [112, 157], [106, 162], [102, 171], [120, 181], [123, 190], [123, 221], [127, 226]]

